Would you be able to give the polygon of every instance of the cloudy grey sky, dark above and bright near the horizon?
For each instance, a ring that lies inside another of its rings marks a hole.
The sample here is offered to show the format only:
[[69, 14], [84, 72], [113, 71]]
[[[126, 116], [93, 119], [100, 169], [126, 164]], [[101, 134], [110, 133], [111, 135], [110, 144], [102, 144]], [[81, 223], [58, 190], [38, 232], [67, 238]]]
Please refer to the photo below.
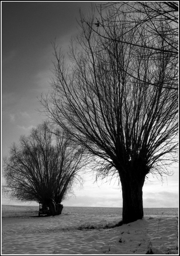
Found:
[[[12, 142], [18, 143], [20, 135], [28, 135], [46, 118], [37, 111], [42, 108], [37, 97], [50, 88], [51, 41], [56, 37], [67, 51], [71, 36], [78, 33], [79, 8], [87, 13], [91, 3], [2, 2], [2, 157]], [[173, 171], [164, 183], [149, 176], [151, 182], [143, 188], [144, 207], [178, 207], [177, 166]], [[74, 188], [76, 197], [63, 201], [64, 206], [122, 207], [117, 180], [101, 185], [93, 184], [89, 175], [84, 179], [83, 188]], [[24, 205], [4, 196], [2, 204]]]

